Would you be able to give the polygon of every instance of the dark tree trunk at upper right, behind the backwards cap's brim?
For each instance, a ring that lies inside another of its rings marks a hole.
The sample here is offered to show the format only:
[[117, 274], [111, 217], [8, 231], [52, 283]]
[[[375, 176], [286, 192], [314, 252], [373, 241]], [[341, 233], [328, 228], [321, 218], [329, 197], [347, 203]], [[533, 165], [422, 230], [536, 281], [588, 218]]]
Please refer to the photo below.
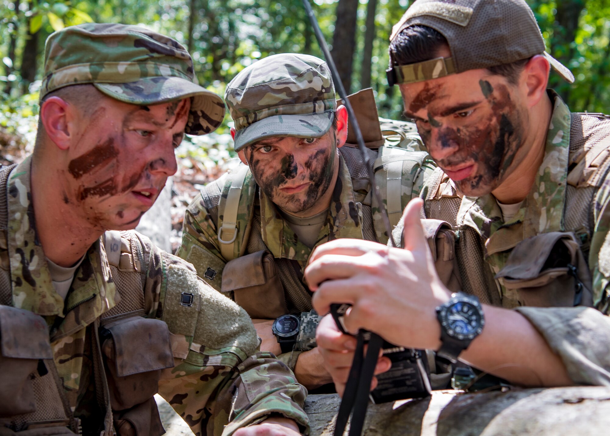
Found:
[[[569, 67], [570, 60], [574, 57], [574, 39], [578, 30], [580, 14], [586, 6], [586, 0], [562, 0], [556, 2], [555, 25], [553, 38], [551, 40], [552, 55], [562, 64]], [[570, 96], [570, 88], [559, 87], [559, 95], [567, 103]]]

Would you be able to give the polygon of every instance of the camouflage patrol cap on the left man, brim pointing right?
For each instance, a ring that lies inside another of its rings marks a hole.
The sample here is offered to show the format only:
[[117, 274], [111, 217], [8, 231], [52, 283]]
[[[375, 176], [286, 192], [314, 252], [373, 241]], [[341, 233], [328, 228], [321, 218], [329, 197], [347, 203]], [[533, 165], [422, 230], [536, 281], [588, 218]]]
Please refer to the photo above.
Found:
[[191, 135], [210, 133], [224, 117], [222, 98], [198, 85], [186, 49], [144, 27], [87, 23], [50, 35], [40, 100], [78, 84], [93, 84], [107, 96], [139, 105], [190, 97], [185, 132]]

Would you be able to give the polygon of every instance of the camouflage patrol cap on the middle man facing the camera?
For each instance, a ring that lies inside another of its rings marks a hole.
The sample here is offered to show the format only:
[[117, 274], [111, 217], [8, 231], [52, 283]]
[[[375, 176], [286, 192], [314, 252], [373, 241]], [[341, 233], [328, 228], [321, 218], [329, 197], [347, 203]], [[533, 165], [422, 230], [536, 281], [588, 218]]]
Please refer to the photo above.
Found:
[[268, 56], [244, 68], [229, 82], [224, 100], [235, 121], [236, 151], [273, 136], [323, 136], [337, 107], [326, 62], [296, 53]]

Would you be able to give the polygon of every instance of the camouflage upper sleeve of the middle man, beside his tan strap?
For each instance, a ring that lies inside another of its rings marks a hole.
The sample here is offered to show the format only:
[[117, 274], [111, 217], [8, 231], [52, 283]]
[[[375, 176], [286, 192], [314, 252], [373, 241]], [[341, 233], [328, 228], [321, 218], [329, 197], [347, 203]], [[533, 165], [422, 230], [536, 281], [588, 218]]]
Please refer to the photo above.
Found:
[[201, 194], [188, 205], [182, 223], [182, 245], [176, 255], [192, 263], [199, 277], [220, 291], [225, 261], [220, 254], [217, 226]]

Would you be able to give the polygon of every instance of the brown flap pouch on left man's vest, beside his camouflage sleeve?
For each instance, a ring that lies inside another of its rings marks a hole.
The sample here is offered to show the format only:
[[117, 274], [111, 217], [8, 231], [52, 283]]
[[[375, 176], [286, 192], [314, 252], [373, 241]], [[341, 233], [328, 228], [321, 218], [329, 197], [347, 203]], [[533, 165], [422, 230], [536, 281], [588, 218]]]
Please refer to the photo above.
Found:
[[99, 336], [112, 410], [132, 409], [152, 398], [159, 390], [161, 370], [174, 366], [167, 324], [132, 313], [104, 323]]

